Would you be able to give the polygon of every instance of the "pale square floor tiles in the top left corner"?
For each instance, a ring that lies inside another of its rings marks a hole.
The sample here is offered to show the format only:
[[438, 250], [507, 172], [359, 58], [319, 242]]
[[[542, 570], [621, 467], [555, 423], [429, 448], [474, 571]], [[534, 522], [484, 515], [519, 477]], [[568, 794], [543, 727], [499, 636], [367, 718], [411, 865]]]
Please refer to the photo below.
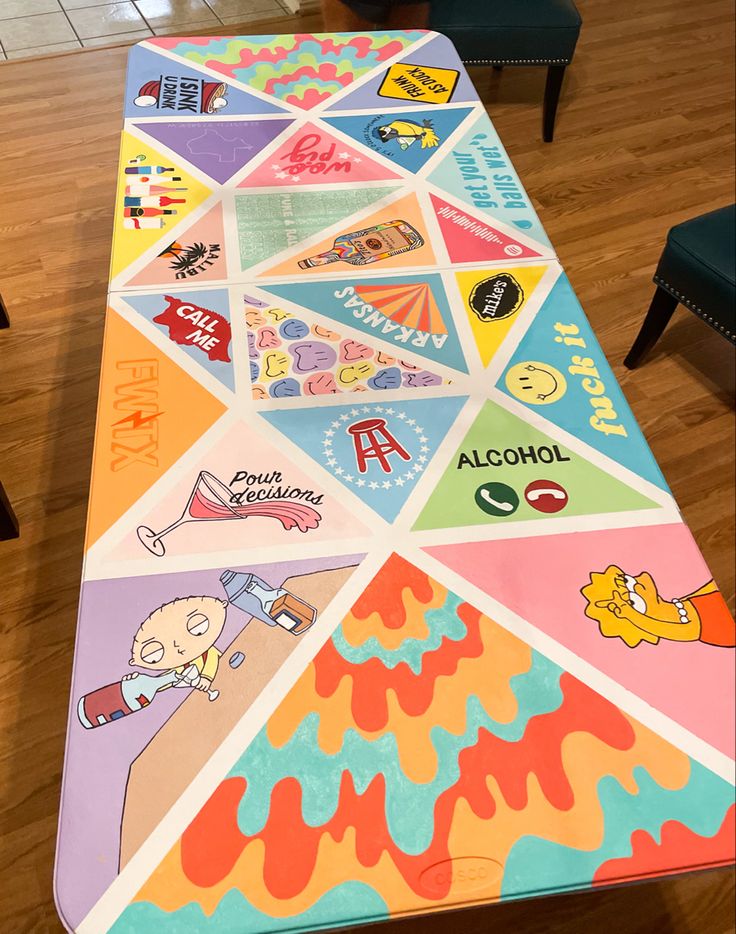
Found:
[[0, 0], [0, 61], [289, 15], [285, 0]]

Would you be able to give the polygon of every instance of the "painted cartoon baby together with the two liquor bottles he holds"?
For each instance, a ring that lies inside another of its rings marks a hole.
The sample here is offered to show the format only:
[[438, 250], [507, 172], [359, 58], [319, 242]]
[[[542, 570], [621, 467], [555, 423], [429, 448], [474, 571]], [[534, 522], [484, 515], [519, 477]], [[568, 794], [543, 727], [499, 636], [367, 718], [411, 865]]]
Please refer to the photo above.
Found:
[[[235, 606], [268, 626], [280, 626], [292, 635], [306, 632], [317, 611], [283, 587], [271, 587], [255, 574], [225, 571], [220, 577], [227, 600], [219, 597], [177, 597], [143, 620], [133, 637], [133, 671], [120, 681], [85, 694], [77, 704], [79, 721], [94, 729], [147, 707], [160, 691], [190, 688], [215, 701], [212, 687], [222, 652], [215, 643], [225, 628], [228, 606]], [[242, 661], [239, 655], [238, 664]], [[232, 667], [237, 667], [233, 656]]]

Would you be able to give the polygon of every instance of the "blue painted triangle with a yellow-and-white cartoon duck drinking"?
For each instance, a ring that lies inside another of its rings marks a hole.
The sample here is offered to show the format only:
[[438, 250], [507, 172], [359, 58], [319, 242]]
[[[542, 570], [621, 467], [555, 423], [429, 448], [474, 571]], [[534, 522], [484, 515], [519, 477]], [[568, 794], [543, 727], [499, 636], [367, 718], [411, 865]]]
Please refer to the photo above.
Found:
[[[400, 114], [363, 114], [323, 118], [363, 146], [409, 172], [418, 172], [443, 151], [445, 140], [455, 132], [469, 107], [410, 110]], [[448, 155], [449, 158], [449, 155]]]

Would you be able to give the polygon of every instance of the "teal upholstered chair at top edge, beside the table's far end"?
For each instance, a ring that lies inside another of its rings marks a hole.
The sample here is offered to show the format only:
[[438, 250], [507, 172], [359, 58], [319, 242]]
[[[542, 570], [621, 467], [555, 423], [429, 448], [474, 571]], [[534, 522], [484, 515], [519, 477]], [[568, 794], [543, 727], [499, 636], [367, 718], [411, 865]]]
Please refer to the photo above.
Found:
[[432, 0], [431, 26], [466, 65], [544, 65], [543, 137], [552, 142], [565, 69], [582, 20], [573, 0]]

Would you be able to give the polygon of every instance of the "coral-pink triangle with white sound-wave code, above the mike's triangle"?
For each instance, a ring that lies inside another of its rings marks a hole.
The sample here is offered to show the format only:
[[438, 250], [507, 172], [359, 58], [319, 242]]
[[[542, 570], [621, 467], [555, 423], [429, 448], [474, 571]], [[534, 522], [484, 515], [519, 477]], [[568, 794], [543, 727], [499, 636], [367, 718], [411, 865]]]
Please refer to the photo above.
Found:
[[541, 258], [541, 253], [475, 215], [466, 214], [431, 193], [430, 198], [442, 231], [442, 239], [453, 263], [504, 260], [508, 262], [510, 259]]

